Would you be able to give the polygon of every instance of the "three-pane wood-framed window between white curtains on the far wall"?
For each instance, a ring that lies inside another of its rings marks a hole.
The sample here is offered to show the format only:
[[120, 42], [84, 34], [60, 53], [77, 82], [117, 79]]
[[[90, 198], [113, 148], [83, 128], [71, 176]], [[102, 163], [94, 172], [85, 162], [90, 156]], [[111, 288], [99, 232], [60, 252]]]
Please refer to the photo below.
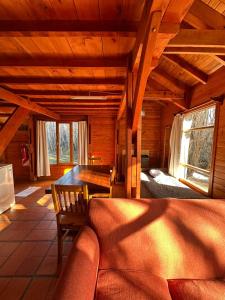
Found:
[[78, 122], [46, 122], [50, 164], [78, 162]]

